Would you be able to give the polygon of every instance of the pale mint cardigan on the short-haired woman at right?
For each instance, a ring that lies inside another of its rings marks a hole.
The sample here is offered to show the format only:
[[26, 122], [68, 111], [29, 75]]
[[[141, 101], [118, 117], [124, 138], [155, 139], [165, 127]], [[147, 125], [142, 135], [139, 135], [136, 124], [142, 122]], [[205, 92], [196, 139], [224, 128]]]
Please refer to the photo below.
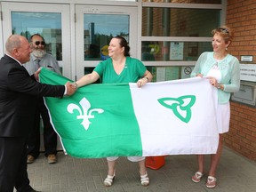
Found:
[[218, 100], [220, 104], [227, 103], [230, 99], [231, 92], [239, 91], [240, 87], [240, 64], [236, 57], [228, 54], [219, 62], [213, 58], [213, 52], [203, 52], [196, 62], [191, 76], [203, 74], [206, 76], [209, 70], [217, 65], [220, 69], [220, 84], [224, 85], [224, 90], [218, 89]]

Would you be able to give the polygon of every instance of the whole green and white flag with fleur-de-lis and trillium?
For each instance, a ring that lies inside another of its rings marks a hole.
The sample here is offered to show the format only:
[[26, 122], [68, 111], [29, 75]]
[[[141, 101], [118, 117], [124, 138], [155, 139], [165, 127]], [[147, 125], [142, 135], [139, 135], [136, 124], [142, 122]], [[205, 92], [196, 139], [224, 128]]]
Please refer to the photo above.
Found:
[[[40, 82], [66, 84], [42, 68]], [[216, 89], [204, 78], [160, 83], [90, 84], [71, 97], [45, 98], [70, 156], [214, 154], [219, 133]]]

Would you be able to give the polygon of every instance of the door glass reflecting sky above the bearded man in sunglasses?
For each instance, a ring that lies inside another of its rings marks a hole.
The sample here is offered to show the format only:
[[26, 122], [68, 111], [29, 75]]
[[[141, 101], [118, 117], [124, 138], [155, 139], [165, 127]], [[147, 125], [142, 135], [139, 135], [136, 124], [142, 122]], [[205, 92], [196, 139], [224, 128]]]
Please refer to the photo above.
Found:
[[56, 60], [62, 60], [61, 13], [58, 12], [12, 12], [12, 34], [44, 36], [46, 51]]

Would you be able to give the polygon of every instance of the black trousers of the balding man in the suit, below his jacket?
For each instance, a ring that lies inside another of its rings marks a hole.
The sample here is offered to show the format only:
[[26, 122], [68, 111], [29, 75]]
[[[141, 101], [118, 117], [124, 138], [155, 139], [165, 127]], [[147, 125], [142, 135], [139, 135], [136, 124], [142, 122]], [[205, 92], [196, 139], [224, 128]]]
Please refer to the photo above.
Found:
[[0, 191], [28, 192], [27, 143], [23, 137], [0, 137]]

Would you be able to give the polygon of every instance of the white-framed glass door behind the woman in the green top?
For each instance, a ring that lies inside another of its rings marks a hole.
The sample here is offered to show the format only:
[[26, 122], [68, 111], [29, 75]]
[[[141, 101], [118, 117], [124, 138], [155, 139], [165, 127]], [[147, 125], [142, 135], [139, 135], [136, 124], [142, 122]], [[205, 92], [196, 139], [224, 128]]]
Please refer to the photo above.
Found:
[[76, 5], [76, 78], [91, 73], [100, 60], [108, 59], [113, 36], [124, 36], [137, 53], [137, 8]]

